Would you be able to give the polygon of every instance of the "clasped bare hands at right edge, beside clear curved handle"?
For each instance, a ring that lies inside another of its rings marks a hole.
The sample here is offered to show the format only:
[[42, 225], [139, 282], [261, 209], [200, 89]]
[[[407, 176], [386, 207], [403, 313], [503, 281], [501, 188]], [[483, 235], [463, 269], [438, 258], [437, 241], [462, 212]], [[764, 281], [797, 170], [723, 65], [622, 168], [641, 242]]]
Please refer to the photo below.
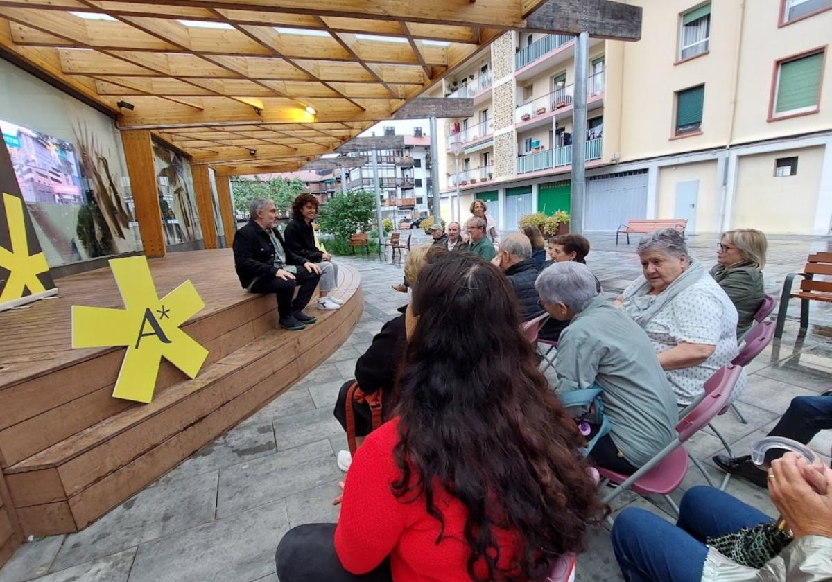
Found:
[[768, 481], [771, 501], [795, 539], [805, 535], [832, 538], [832, 469], [824, 467], [821, 474], [802, 456], [787, 452], [771, 461]]

